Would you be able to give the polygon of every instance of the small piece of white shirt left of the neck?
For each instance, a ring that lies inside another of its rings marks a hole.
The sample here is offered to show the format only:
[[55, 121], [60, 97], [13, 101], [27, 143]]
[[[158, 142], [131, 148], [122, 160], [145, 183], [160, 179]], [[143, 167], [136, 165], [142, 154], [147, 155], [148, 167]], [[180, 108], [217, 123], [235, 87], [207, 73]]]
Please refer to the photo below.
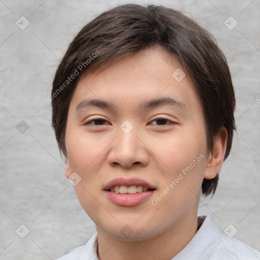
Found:
[[79, 246], [71, 250], [68, 254], [65, 254], [56, 260], [96, 260], [98, 256], [95, 251], [97, 233], [95, 233], [85, 245]]

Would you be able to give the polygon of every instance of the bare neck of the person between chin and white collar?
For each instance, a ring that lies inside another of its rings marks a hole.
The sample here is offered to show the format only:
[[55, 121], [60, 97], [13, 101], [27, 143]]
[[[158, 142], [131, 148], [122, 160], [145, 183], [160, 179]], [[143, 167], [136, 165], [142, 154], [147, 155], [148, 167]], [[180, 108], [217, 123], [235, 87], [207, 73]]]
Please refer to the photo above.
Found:
[[[170, 229], [151, 239], [122, 241], [96, 226], [98, 255], [101, 260], [169, 260], [177, 255], [197, 232], [197, 212], [181, 218]], [[163, 253], [162, 253], [163, 252]]]

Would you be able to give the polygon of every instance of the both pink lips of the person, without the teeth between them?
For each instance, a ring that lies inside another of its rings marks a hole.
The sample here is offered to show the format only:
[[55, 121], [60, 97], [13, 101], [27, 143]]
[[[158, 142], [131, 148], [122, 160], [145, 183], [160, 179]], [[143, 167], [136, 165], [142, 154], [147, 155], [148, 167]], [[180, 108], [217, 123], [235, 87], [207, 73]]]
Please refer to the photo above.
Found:
[[[110, 188], [115, 187], [115, 186], [143, 186], [147, 187], [149, 191], [142, 191], [142, 192], [137, 192], [134, 194], [121, 194], [121, 193], [116, 193], [116, 192], [111, 192], [109, 191]], [[115, 205], [117, 206], [122, 206], [122, 207], [131, 207], [131, 206], [137, 206], [141, 203], [144, 203], [147, 201], [153, 194], [153, 192], [156, 190], [154, 186], [152, 186], [150, 183], [147, 181], [137, 179], [137, 178], [130, 178], [130, 179], [124, 179], [124, 178], [116, 178], [111, 181], [109, 181], [105, 186], [104, 186], [104, 192], [105, 196]]]

